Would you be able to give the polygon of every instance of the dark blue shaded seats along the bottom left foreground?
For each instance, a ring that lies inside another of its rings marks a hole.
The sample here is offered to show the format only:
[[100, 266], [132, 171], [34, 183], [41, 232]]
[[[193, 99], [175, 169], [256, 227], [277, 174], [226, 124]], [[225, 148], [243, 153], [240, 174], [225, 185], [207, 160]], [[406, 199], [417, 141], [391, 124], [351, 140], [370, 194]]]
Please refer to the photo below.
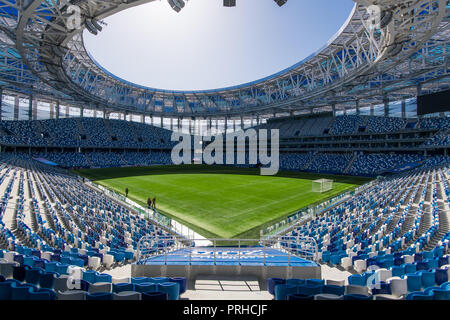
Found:
[[182, 277], [113, 278], [76, 266], [65, 269], [59, 273], [0, 259], [0, 300], [55, 300], [57, 297], [90, 300], [90, 295], [108, 300], [117, 295], [120, 298], [123, 293], [127, 293], [124, 295], [127, 299], [139, 300], [141, 295], [163, 293], [167, 295], [166, 300], [178, 300], [186, 291], [186, 278]]

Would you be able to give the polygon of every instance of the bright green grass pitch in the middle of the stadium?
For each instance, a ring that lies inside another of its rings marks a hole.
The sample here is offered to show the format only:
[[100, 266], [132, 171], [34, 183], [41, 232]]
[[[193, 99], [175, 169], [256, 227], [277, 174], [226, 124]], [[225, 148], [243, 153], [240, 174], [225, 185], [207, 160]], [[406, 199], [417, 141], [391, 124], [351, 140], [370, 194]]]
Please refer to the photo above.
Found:
[[[259, 230], [308, 205], [368, 181], [366, 178], [221, 166], [158, 166], [80, 170], [92, 181], [146, 206], [156, 197], [161, 212], [205, 237], [259, 238]], [[312, 192], [312, 180], [334, 180], [333, 190]]]

